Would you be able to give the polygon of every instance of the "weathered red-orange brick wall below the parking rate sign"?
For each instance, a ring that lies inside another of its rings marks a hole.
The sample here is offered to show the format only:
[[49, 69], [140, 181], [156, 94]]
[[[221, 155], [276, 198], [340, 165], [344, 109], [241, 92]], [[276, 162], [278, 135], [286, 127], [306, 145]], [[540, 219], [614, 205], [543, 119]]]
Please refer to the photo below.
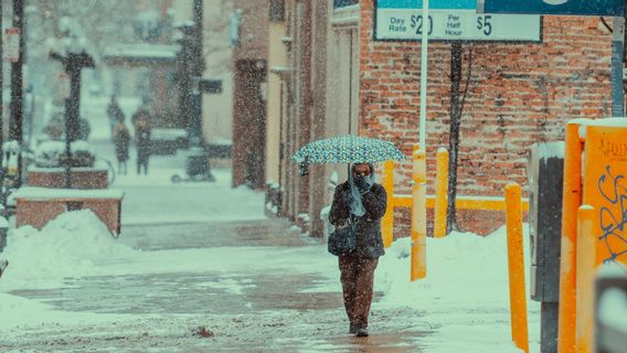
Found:
[[[373, 3], [361, 1], [360, 133], [394, 141], [411, 156], [418, 140], [419, 42], [374, 42]], [[531, 143], [563, 139], [571, 118], [609, 116], [610, 40], [598, 18], [544, 17], [543, 43], [464, 45], [463, 79], [469, 50], [472, 74], [461, 119], [458, 194], [500, 196], [510, 181], [525, 185]], [[431, 43], [428, 57], [433, 180], [435, 152], [448, 147], [450, 44]], [[408, 193], [411, 162], [395, 173], [398, 192]]]

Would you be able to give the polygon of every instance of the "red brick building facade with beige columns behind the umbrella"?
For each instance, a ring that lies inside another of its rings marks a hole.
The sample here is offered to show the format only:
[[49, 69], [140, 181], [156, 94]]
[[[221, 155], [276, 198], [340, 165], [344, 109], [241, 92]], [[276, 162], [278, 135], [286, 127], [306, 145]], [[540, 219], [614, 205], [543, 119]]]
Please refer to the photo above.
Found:
[[[266, 145], [267, 206], [320, 236], [320, 211], [331, 202], [332, 185], [346, 180], [346, 165], [312, 165], [300, 176], [289, 156], [308, 141], [343, 133], [389, 140], [411, 156], [418, 141], [421, 45], [375, 41], [375, 0], [270, 2], [284, 9], [283, 21], [270, 24], [283, 31], [281, 44], [273, 34], [270, 47], [283, 45], [285, 56], [268, 62], [274, 121], [268, 129], [279, 132]], [[563, 139], [568, 119], [609, 115], [610, 40], [598, 18], [544, 17], [540, 43], [463, 43], [468, 86], [461, 87], [459, 196], [502, 196], [509, 182], [525, 186], [532, 143]], [[451, 45], [429, 43], [428, 55], [426, 153], [433, 181], [435, 153], [448, 147]], [[397, 193], [411, 192], [411, 173], [410, 159], [396, 163]], [[434, 183], [427, 184], [433, 193]], [[408, 235], [406, 212], [396, 216], [407, 229], [398, 235]], [[504, 216], [459, 212], [458, 221], [465, 229], [487, 233]]]

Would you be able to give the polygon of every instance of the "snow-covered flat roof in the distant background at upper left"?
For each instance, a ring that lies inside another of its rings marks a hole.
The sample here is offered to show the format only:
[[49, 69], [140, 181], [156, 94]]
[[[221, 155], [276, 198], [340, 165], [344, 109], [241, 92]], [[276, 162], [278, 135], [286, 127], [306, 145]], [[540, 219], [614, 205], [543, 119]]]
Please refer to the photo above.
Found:
[[177, 44], [114, 44], [105, 50], [107, 65], [174, 65], [180, 45]]

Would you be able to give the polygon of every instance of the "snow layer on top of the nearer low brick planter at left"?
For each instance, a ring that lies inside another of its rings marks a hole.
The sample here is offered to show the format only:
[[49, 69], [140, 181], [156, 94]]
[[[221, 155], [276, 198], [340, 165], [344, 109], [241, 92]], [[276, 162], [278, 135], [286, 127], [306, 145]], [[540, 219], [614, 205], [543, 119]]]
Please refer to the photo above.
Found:
[[50, 189], [23, 186], [13, 193], [15, 200], [49, 200], [49, 199], [121, 199], [124, 191], [109, 189]]

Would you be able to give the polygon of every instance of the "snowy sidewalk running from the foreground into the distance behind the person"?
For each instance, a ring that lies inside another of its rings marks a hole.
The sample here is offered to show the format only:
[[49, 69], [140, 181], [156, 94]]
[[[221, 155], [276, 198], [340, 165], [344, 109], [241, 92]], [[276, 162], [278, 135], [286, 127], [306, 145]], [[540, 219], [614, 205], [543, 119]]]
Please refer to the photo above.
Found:
[[63, 260], [52, 250], [33, 254], [41, 264], [12, 261], [14, 271], [44, 269], [22, 284], [10, 271], [0, 280], [1, 352], [419, 351], [432, 329], [415, 309], [380, 304], [381, 292], [372, 335], [348, 334], [337, 258], [322, 240], [263, 216], [263, 194], [231, 189], [220, 170], [216, 183], [172, 185], [181, 159], [152, 163], [150, 175], [130, 172], [114, 185], [126, 193], [117, 240], [105, 234], [85, 257], [78, 250], [91, 245], [77, 234], [60, 244], [73, 263], [49, 266], [47, 257]]

